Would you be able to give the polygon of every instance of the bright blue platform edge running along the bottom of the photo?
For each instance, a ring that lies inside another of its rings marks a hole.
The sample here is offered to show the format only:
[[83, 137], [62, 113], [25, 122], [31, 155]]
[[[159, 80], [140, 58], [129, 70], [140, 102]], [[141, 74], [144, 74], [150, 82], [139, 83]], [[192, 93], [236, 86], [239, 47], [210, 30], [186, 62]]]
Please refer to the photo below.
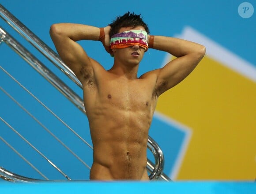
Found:
[[255, 182], [0, 183], [1, 194], [256, 194]]

